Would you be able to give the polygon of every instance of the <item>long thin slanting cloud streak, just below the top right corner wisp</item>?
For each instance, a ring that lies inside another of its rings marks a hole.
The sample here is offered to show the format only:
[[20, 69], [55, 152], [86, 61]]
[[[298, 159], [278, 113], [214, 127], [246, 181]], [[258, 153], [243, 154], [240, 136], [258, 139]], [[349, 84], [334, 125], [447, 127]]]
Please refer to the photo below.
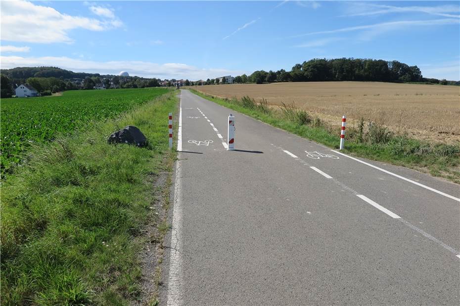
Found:
[[377, 23], [377, 24], [372, 24], [372, 25], [346, 27], [346, 28], [328, 30], [328, 31], [310, 32], [310, 33], [290, 36], [289, 38], [297, 38], [297, 37], [317, 35], [317, 34], [333, 34], [333, 33], [341, 33], [341, 32], [352, 32], [352, 31], [368, 30], [368, 29], [398, 30], [402, 27], [408, 27], [408, 26], [436, 26], [436, 25], [449, 25], [449, 24], [459, 24], [459, 20], [452, 19], [452, 18], [445, 18], [445, 19], [433, 19], [433, 20], [391, 21], [391, 22], [382, 22], [382, 23]]

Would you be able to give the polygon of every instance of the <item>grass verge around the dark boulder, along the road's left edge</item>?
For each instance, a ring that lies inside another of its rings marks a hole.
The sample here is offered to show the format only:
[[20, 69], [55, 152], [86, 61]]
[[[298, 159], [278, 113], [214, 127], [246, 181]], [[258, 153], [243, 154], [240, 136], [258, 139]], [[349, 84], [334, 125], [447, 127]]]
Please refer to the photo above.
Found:
[[[138, 237], [155, 218], [151, 178], [172, 171], [176, 158], [166, 123], [178, 102], [171, 92], [33, 145], [28, 163], [1, 184], [2, 305], [136, 303]], [[145, 134], [148, 148], [106, 143], [129, 124]]]

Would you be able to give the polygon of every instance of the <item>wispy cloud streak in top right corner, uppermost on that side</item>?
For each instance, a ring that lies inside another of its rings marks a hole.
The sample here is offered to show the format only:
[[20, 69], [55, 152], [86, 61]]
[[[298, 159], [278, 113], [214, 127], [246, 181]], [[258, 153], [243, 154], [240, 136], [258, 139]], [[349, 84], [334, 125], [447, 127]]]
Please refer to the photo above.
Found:
[[353, 3], [347, 16], [371, 16], [389, 13], [408, 13], [418, 12], [430, 15], [460, 18], [459, 5], [439, 5], [439, 6], [392, 6], [369, 3]]

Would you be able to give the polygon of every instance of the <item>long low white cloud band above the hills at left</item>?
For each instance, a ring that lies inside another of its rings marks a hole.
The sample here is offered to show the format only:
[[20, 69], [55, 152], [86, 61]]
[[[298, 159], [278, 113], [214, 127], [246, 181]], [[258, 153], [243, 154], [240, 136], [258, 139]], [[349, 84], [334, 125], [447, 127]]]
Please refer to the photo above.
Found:
[[88, 72], [117, 75], [120, 71], [128, 71], [131, 76], [159, 78], [188, 78], [191, 80], [215, 78], [218, 76], [241, 75], [243, 71], [227, 69], [200, 69], [181, 63], [157, 64], [143, 61], [110, 61], [96, 62], [69, 57], [20, 57], [1, 56], [1, 69], [15, 67], [53, 66], [75, 72]]

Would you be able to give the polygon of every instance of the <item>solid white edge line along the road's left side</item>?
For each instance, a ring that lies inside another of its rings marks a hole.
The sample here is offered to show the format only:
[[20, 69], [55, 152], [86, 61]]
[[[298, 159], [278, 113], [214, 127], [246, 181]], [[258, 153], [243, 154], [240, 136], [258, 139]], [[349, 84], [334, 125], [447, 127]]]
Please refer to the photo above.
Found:
[[[182, 151], [182, 93], [179, 113], [178, 151]], [[180, 153], [179, 153], [180, 154]], [[182, 177], [181, 159], [176, 161], [176, 184], [174, 185], [173, 224], [171, 229], [171, 253], [167, 305], [182, 305]]]

